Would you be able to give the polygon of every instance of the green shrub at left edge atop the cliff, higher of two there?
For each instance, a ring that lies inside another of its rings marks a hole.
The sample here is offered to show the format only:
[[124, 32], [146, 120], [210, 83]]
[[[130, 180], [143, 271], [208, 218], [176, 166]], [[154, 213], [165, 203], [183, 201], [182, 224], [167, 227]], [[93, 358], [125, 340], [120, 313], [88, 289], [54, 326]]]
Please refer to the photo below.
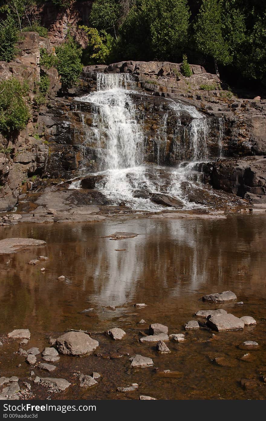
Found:
[[0, 21], [0, 61], [11, 61], [16, 57], [18, 29], [14, 19], [8, 16]]

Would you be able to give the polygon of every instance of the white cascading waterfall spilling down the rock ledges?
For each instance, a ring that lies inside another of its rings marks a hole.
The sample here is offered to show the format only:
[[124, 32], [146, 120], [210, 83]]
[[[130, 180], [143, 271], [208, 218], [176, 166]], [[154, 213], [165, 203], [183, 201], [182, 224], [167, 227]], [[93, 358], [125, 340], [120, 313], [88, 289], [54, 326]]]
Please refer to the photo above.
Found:
[[[196, 187], [190, 177], [193, 164], [186, 167], [179, 165], [174, 169], [144, 165], [145, 136], [135, 117], [135, 106], [130, 96], [132, 91], [128, 90], [131, 83], [128, 74], [97, 73], [97, 91], [79, 98], [79, 101], [91, 104], [94, 115], [90, 136], [96, 145], [99, 169], [97, 174], [103, 175], [95, 188], [112, 200], [114, 205], [125, 203], [132, 209], [165, 209], [149, 200], [148, 197], [155, 193], [173, 195], [182, 200], [186, 208], [199, 207], [187, 199], [187, 194], [182, 189], [184, 182]], [[173, 100], [168, 102], [170, 108], [176, 112], [179, 124], [178, 117], [181, 114], [187, 114], [192, 119], [185, 128], [190, 139], [192, 160], [195, 163], [206, 159], [207, 118], [193, 106]], [[165, 139], [167, 119], [168, 113], [165, 113], [162, 121]], [[158, 162], [163, 143], [164, 141], [158, 141]], [[70, 187], [77, 188], [79, 185], [74, 182]], [[140, 191], [142, 194], [139, 194]]]

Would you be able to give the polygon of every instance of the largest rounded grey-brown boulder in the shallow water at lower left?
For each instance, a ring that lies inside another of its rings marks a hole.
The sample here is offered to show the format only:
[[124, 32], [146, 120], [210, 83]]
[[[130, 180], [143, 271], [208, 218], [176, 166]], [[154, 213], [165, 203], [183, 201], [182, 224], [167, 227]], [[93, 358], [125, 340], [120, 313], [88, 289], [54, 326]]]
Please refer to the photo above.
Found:
[[87, 333], [68, 332], [56, 339], [56, 346], [61, 354], [85, 355], [94, 351], [99, 346], [99, 342]]

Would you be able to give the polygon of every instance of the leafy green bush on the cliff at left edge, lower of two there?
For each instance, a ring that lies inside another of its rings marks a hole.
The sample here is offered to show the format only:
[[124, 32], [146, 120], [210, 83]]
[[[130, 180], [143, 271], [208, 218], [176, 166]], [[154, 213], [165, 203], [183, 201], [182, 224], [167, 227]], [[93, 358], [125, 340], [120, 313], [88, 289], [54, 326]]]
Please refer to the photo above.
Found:
[[29, 120], [29, 108], [24, 96], [29, 87], [15, 77], [0, 82], [0, 131], [9, 133], [21, 130]]

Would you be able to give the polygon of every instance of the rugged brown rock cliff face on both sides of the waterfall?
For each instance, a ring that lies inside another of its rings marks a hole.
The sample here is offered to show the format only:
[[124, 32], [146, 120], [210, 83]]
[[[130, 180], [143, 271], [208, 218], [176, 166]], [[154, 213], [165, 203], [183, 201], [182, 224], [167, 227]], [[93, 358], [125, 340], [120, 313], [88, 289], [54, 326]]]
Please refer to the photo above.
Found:
[[[40, 177], [43, 184], [49, 178], [77, 176], [82, 167], [85, 171], [97, 170], [97, 149], [105, 145], [95, 142], [92, 136], [95, 110], [90, 103], [79, 101], [78, 96], [96, 90], [100, 72], [130, 74], [128, 88], [134, 90], [130, 96], [145, 136], [146, 162], [176, 165], [192, 158], [189, 141], [192, 119], [185, 111], [177, 116], [175, 107], [194, 106], [207, 117], [208, 123], [210, 163], [199, 166], [205, 182], [248, 200], [257, 200], [252, 195], [265, 196], [265, 161], [253, 158], [247, 161], [245, 157], [266, 155], [266, 101], [230, 98], [219, 78], [203, 67], [193, 65], [192, 76], [183, 77], [180, 64], [158, 61], [85, 67], [79, 86], [69, 90], [69, 96], [59, 97], [57, 72], [39, 65], [40, 48], [52, 51], [50, 41], [33, 32], [24, 36], [16, 61], [0, 62], [0, 78], [16, 76], [28, 80], [32, 101], [40, 72], [46, 72], [50, 76], [50, 100], [39, 109], [32, 105], [32, 118], [24, 131], [10, 139], [0, 137], [1, 211], [13, 208], [19, 195], [37, 186], [32, 176]], [[200, 88], [204, 85], [211, 91]], [[229, 160], [219, 160], [221, 156]], [[244, 164], [247, 168], [243, 172], [240, 168]], [[252, 182], [250, 171], [256, 174]]]

